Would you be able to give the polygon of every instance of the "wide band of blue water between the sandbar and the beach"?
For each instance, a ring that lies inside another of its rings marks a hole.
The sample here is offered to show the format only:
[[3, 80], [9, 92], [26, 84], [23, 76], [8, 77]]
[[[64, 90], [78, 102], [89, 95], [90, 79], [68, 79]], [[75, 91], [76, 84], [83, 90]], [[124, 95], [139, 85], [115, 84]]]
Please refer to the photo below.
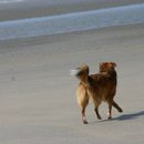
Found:
[[0, 41], [144, 23], [144, 3], [0, 22]]

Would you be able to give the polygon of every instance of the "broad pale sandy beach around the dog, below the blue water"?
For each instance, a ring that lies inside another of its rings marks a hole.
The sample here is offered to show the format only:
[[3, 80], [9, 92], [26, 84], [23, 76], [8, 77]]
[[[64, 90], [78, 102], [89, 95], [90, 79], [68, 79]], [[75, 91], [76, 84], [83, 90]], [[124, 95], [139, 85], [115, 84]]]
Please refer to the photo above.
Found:
[[[85, 63], [96, 73], [104, 61], [117, 64], [124, 112], [106, 120], [103, 103], [100, 121], [90, 103], [84, 125], [70, 70]], [[0, 41], [0, 144], [142, 144], [143, 63], [143, 23]]]

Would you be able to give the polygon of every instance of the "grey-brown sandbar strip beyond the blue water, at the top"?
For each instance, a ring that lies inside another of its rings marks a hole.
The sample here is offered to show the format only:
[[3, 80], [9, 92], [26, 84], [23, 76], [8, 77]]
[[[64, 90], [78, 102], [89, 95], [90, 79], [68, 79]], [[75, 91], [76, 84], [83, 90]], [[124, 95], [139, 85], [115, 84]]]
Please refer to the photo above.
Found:
[[142, 3], [144, 0], [23, 0], [0, 3], [0, 21]]

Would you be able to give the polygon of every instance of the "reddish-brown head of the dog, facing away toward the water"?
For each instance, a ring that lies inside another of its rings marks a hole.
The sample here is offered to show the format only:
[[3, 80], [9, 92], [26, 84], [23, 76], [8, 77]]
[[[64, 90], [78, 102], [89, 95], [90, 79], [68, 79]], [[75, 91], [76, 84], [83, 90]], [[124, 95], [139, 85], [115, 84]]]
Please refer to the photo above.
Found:
[[116, 66], [114, 62], [102, 62], [100, 63], [100, 72], [109, 72], [113, 71]]

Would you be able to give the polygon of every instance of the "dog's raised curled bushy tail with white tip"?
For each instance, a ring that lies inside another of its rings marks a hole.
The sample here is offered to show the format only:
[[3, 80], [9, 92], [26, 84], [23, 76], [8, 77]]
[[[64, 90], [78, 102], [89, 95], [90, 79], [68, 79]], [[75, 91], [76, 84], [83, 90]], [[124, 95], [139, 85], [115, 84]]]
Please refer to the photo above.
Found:
[[74, 70], [71, 70], [71, 75], [75, 75], [80, 80], [84, 80], [89, 76], [89, 66], [86, 64], [83, 64]]

